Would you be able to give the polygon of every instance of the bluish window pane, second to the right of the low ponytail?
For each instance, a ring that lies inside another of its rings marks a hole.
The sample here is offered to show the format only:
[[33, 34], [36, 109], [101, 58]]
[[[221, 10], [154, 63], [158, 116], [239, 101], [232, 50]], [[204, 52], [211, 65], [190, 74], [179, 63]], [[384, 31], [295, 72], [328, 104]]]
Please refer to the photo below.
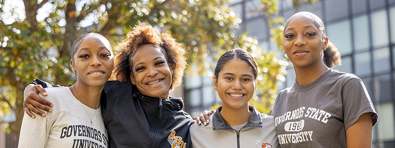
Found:
[[355, 74], [360, 75], [369, 75], [371, 73], [371, 64], [370, 64], [370, 52], [363, 52], [355, 54], [354, 64], [355, 64]]

